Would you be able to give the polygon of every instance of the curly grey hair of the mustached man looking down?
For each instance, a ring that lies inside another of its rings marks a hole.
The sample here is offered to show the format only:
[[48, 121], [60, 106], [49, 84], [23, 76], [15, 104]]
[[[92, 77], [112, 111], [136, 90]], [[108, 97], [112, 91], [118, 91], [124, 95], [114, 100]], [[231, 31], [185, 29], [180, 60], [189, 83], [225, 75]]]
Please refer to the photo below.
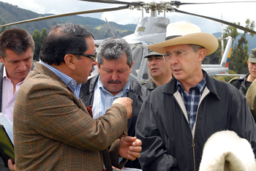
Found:
[[103, 63], [103, 56], [106, 60], [120, 58], [122, 54], [127, 55], [127, 64], [132, 66], [132, 49], [128, 42], [118, 37], [110, 37], [104, 39], [97, 50], [97, 60], [100, 64]]

